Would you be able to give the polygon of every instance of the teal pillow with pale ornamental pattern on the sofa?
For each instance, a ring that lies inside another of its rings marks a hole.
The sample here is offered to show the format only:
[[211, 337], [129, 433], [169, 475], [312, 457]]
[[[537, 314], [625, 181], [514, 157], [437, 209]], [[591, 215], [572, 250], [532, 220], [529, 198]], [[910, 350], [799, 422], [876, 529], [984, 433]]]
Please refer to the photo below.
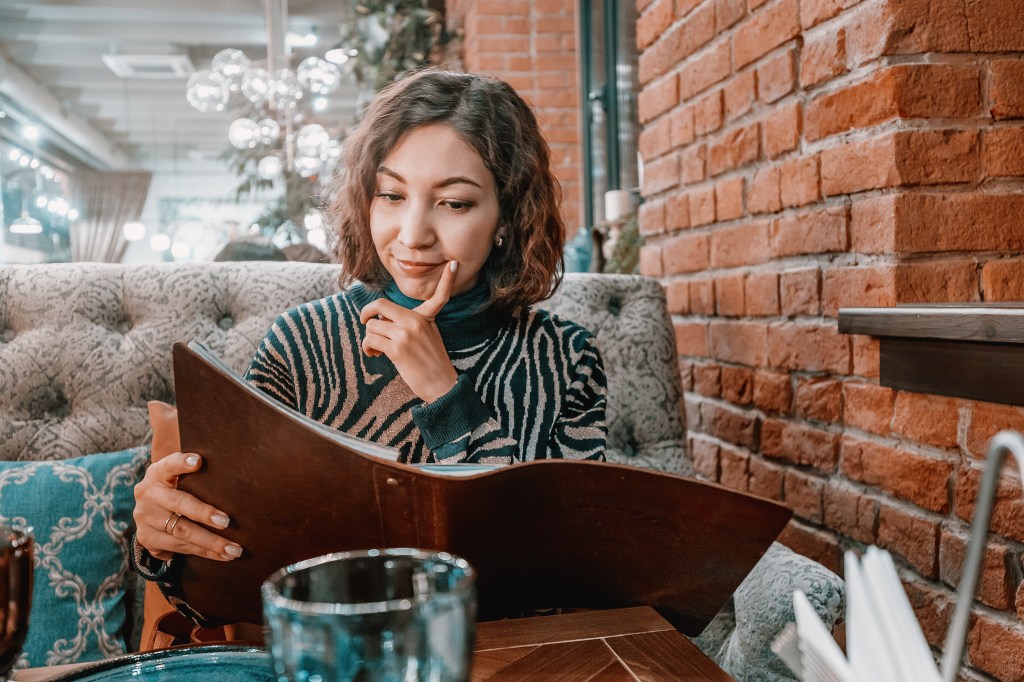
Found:
[[0, 521], [32, 526], [36, 571], [17, 668], [126, 652], [132, 488], [148, 446], [55, 462], [0, 462]]

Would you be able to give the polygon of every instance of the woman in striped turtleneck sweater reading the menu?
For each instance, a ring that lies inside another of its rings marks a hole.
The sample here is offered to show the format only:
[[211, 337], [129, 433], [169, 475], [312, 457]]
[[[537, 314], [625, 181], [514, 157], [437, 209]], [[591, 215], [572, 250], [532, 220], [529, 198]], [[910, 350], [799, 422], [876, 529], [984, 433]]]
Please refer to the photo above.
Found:
[[[285, 404], [399, 450], [408, 463], [603, 459], [594, 337], [531, 309], [559, 283], [564, 225], [549, 151], [506, 83], [425, 71], [377, 95], [345, 141], [331, 213], [342, 285], [289, 310], [247, 379]], [[175, 595], [172, 557], [229, 561], [229, 520], [177, 491], [195, 454], [136, 486], [135, 560]]]

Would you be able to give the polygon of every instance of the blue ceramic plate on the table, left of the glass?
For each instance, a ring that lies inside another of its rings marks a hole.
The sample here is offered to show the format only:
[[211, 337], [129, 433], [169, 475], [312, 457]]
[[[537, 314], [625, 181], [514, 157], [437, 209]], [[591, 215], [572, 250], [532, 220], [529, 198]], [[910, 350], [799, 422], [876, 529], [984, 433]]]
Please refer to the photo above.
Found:
[[53, 682], [273, 682], [270, 654], [255, 646], [208, 644], [187, 648], [131, 653], [100, 660], [72, 673], [53, 678]]

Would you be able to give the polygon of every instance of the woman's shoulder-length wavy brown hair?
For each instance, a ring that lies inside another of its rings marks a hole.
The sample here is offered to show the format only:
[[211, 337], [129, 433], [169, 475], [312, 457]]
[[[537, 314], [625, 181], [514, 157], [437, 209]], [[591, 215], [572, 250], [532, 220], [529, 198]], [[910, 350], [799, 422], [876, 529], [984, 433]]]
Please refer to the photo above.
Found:
[[370, 235], [377, 169], [402, 135], [419, 126], [450, 126], [490, 171], [498, 193], [498, 233], [481, 270], [493, 306], [517, 310], [551, 296], [564, 269], [565, 225], [551, 152], [529, 105], [508, 83], [476, 74], [428, 69], [381, 90], [345, 139], [345, 168], [328, 208], [335, 222], [341, 284], [391, 282]]

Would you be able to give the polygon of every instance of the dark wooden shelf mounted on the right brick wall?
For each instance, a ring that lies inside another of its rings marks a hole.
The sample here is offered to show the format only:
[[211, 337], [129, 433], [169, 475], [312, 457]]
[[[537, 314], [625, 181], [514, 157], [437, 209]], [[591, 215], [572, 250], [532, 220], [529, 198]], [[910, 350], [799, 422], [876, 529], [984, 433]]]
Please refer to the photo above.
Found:
[[879, 337], [883, 386], [1024, 406], [1024, 303], [843, 308], [839, 331]]

